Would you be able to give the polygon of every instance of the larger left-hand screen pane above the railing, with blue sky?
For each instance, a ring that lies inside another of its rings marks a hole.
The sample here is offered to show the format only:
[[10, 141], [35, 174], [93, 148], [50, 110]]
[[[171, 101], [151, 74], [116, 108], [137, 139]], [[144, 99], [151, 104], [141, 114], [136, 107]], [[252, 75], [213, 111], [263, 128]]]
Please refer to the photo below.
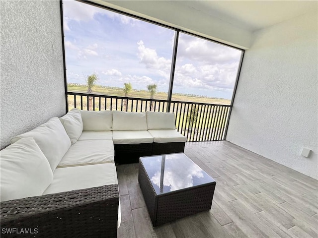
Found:
[[94, 93], [125, 96], [130, 83], [126, 96], [149, 98], [153, 90], [155, 99], [167, 99], [174, 30], [83, 2], [63, 3], [69, 91], [87, 91], [86, 76], [95, 73]]

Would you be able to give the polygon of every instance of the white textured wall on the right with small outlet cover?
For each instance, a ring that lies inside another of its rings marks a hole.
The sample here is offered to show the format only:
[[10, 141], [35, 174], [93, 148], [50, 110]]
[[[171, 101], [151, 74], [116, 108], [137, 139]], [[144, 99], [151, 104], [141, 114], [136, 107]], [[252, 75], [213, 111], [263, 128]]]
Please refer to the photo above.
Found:
[[[255, 32], [227, 140], [318, 179], [317, 9]], [[303, 147], [312, 151], [300, 155]]]

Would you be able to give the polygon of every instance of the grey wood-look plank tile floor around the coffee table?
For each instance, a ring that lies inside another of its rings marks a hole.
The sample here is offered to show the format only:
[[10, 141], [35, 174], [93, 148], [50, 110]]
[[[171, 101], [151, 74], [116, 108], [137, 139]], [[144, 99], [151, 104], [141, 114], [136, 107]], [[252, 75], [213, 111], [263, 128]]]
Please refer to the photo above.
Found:
[[185, 152], [217, 181], [212, 209], [153, 228], [138, 164], [117, 166], [118, 238], [317, 238], [318, 181], [228, 141], [189, 142]]

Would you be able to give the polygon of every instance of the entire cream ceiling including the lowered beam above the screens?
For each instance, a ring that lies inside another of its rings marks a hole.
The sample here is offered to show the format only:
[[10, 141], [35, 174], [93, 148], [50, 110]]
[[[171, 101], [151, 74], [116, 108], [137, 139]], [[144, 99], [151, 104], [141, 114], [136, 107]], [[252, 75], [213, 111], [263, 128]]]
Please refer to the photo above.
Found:
[[90, 0], [167, 26], [248, 49], [254, 32], [318, 12], [303, 0]]

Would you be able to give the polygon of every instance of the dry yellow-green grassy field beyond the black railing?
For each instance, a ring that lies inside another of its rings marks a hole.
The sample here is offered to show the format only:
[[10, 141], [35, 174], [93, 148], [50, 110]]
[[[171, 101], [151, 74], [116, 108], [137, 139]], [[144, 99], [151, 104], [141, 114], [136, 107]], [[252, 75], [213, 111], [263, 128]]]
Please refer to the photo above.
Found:
[[[87, 87], [84, 86], [70, 86], [68, 87], [69, 92], [86, 93]], [[102, 94], [109, 96], [124, 96], [122, 89], [119, 88], [102, 88], [94, 87], [94, 94]], [[132, 91], [129, 97], [145, 98], [149, 99], [148, 91]], [[121, 100], [121, 99], [105, 99], [96, 97], [80, 97], [74, 95], [68, 96], [69, 110], [73, 109], [76, 105], [78, 109], [93, 110], [119, 110], [119, 111], [133, 111], [133, 112], [145, 112], [145, 111], [160, 111], [165, 112], [166, 103], [154, 102], [152, 105], [150, 102], [146, 103], [142, 100]], [[155, 95], [155, 99], [167, 99], [167, 94], [158, 92]], [[175, 101], [183, 102], [198, 102], [198, 103], [209, 103], [219, 104], [220, 106], [204, 106], [204, 105], [192, 105], [178, 103], [171, 103], [170, 112], [174, 112], [176, 115], [176, 127], [180, 133], [187, 136], [187, 141], [199, 140], [218, 140], [222, 139], [222, 134], [227, 124], [227, 118], [229, 116], [229, 108], [223, 107], [222, 105], [230, 105], [230, 100], [225, 99], [214, 99], [214, 98], [203, 98], [193, 97], [190, 95], [175, 95], [173, 98]], [[87, 106], [89, 105], [89, 107]]]

